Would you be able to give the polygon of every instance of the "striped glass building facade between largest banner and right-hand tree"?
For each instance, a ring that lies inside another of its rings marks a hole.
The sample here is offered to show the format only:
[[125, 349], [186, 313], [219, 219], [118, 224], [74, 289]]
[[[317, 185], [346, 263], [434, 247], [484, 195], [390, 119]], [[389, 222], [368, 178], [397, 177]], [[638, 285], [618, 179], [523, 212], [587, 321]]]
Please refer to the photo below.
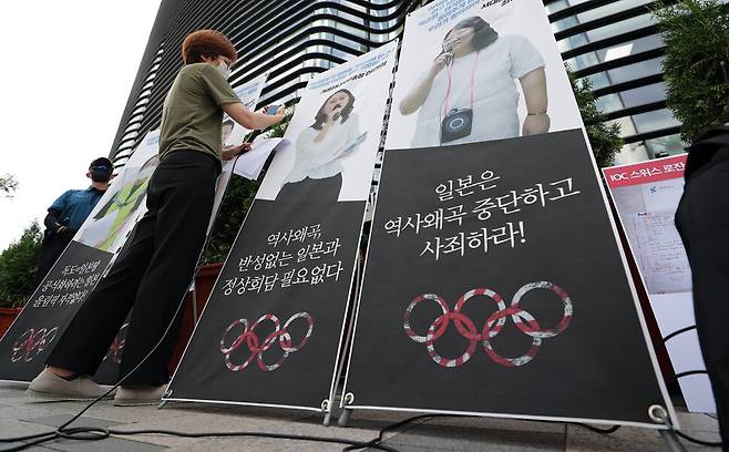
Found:
[[626, 144], [616, 163], [684, 152], [666, 107], [665, 44], [651, 0], [555, 0], [545, 8], [563, 59], [592, 82], [597, 105]]

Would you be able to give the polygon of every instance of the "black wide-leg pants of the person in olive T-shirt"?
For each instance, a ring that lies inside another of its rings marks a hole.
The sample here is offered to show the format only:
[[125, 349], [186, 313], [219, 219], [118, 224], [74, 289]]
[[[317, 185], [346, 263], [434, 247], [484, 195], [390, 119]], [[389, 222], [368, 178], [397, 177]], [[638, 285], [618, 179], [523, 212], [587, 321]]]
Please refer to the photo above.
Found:
[[219, 163], [196, 151], [168, 154], [147, 188], [148, 212], [106, 278], [79, 309], [47, 363], [93, 374], [130, 309], [121, 374], [136, 367], [173, 320], [157, 350], [125, 384], [163, 384], [177, 339], [178, 309], [205, 244]]

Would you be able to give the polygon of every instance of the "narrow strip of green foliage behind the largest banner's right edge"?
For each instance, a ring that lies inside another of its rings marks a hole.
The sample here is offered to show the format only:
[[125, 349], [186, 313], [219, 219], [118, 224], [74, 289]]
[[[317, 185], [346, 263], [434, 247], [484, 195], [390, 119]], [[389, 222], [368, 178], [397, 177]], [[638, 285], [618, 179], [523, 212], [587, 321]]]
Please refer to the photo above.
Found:
[[605, 124], [605, 116], [597, 109], [595, 103], [595, 95], [593, 94], [593, 85], [586, 80], [577, 80], [575, 74], [567, 68], [569, 75], [569, 83], [572, 91], [575, 93], [579, 114], [582, 115], [589, 144], [593, 147], [593, 154], [597, 166], [600, 168], [613, 165], [615, 154], [623, 147], [623, 140], [620, 138], [619, 124]]

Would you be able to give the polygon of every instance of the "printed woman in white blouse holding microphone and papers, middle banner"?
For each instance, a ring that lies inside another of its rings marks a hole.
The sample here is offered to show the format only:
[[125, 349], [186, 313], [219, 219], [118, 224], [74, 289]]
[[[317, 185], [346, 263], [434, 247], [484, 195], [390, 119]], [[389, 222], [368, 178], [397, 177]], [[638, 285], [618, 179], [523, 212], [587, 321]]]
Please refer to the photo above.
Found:
[[319, 107], [314, 124], [294, 143], [296, 157], [276, 199], [336, 203], [342, 185], [341, 160], [363, 142], [355, 109], [355, 95], [346, 89], [331, 94]]

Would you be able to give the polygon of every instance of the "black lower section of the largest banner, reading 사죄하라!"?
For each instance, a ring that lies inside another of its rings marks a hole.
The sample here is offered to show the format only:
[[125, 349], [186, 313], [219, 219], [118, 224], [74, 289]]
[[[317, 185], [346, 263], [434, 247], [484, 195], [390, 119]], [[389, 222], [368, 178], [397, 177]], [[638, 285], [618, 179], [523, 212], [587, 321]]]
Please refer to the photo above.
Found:
[[583, 132], [388, 151], [353, 407], [651, 423], [666, 405]]

